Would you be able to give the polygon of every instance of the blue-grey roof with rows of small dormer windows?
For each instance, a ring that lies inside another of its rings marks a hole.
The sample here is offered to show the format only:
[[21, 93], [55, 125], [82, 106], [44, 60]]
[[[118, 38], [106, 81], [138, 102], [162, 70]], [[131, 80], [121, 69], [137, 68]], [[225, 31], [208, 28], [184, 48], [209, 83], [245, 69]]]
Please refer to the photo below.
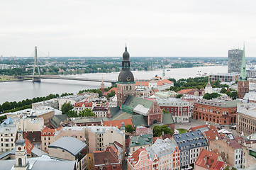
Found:
[[174, 140], [180, 150], [208, 146], [208, 142], [200, 130], [174, 135]]

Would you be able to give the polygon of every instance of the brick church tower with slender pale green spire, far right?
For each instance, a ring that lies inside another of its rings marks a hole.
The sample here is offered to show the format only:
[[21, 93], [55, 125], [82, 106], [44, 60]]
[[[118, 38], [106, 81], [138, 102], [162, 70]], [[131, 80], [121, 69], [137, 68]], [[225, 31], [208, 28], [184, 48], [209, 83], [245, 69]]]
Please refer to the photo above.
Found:
[[249, 92], [249, 81], [247, 81], [246, 62], [245, 62], [245, 45], [243, 45], [243, 60], [238, 80], [238, 98], [243, 98], [245, 93]]

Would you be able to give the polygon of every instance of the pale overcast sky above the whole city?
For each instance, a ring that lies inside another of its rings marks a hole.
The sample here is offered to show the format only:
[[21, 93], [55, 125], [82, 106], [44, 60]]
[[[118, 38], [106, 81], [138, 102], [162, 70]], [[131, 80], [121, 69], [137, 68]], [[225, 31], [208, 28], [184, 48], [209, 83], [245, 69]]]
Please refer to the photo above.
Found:
[[256, 57], [255, 0], [1, 0], [0, 55]]

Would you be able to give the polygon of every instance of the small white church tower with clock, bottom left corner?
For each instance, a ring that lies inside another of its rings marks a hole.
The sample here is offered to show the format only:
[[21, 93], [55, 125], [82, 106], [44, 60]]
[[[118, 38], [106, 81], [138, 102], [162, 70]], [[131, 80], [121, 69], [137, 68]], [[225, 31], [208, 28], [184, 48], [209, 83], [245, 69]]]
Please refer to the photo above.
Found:
[[18, 140], [16, 141], [16, 152], [15, 152], [15, 170], [26, 170], [28, 169], [26, 143], [23, 139], [22, 131], [18, 130]]

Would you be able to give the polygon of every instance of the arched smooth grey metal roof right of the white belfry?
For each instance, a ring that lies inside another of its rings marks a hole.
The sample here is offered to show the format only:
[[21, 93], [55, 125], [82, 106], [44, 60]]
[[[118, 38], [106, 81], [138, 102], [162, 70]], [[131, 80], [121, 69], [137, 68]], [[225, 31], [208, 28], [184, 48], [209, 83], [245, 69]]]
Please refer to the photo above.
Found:
[[60, 137], [59, 140], [56, 140], [49, 145], [49, 148], [65, 149], [74, 156], [79, 154], [85, 147], [87, 147], [87, 145], [84, 142], [77, 140], [74, 137]]

